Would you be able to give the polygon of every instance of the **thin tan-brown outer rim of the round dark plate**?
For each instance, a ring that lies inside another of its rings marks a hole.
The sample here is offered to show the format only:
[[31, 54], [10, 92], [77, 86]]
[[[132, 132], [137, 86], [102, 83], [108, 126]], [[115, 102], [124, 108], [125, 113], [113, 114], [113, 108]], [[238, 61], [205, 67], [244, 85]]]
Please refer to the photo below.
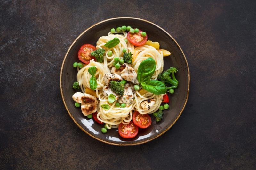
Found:
[[[69, 53], [69, 50], [72, 48], [72, 46], [75, 44], [75, 42], [76, 42], [85, 32], [87, 32], [88, 30], [90, 30], [92, 27], [94, 27], [94, 26], [96, 26], [96, 25], [99, 25], [99, 24], [101, 24], [101, 23], [103, 23], [103, 22], [107, 22], [107, 21], [115, 20], [115, 19], [136, 19], [136, 20], [148, 22], [149, 24], [155, 25], [156, 27], [158, 27], [159, 29], [161, 29], [162, 31], [164, 31], [167, 35], [170, 36], [170, 38], [171, 38], [171, 39], [176, 43], [176, 45], [179, 47], [179, 49], [180, 49], [180, 51], [181, 51], [181, 53], [182, 53], [182, 55], [183, 55], [183, 57], [184, 57], [184, 60], [185, 60], [185, 62], [186, 62], [187, 68], [188, 68], [188, 69], [187, 69], [187, 71], [188, 71], [188, 91], [187, 91], [187, 96], [186, 96], [185, 103], [184, 103], [184, 105], [183, 105], [183, 107], [182, 107], [182, 109], [181, 109], [181, 111], [180, 111], [178, 117], [174, 120], [174, 122], [173, 122], [169, 127], [167, 127], [164, 131], [162, 131], [161, 133], [159, 133], [158, 135], [156, 135], [154, 138], [151, 138], [151, 139], [148, 139], [148, 140], [145, 140], [145, 141], [141, 141], [141, 142], [123, 143], [123, 144], [120, 144], [120, 143], [108, 142], [108, 141], [102, 140], [102, 139], [100, 139], [100, 138], [97, 138], [96, 136], [93, 136], [92, 134], [90, 134], [89, 132], [87, 132], [84, 128], [82, 128], [82, 127], [80, 126], [80, 124], [78, 124], [78, 123], [76, 122], [75, 118], [71, 115], [70, 111], [68, 110], [67, 104], [66, 104], [66, 102], [65, 102], [65, 100], [64, 100], [64, 95], [63, 95], [61, 80], [62, 80], [63, 66], [64, 66], [64, 63], [65, 63], [66, 57], [67, 57], [67, 55], [68, 55], [68, 53]], [[149, 142], [149, 141], [151, 141], [151, 140], [153, 140], [153, 139], [158, 138], [159, 136], [163, 135], [166, 131], [168, 131], [168, 130], [173, 126], [173, 124], [175, 124], [176, 121], [179, 119], [181, 113], [183, 112], [183, 110], [184, 110], [184, 108], [185, 108], [185, 106], [186, 106], [186, 104], [187, 104], [188, 95], [189, 95], [189, 85], [190, 85], [190, 72], [189, 72], [189, 67], [188, 67], [188, 61], [187, 61], [187, 59], [186, 59], [186, 57], [185, 57], [185, 54], [183, 53], [182, 49], [180, 48], [180, 45], [177, 43], [177, 41], [176, 41], [168, 32], [166, 32], [163, 28], [161, 28], [160, 26], [158, 26], [158, 25], [156, 25], [156, 24], [154, 24], [154, 23], [152, 23], [152, 22], [150, 22], [150, 21], [148, 21], [148, 20], [141, 19], [141, 18], [134, 18], [134, 17], [116, 17], [116, 18], [109, 18], [109, 19], [100, 21], [100, 22], [98, 22], [98, 23], [96, 23], [96, 24], [90, 26], [89, 28], [87, 28], [87, 29], [86, 29], [84, 32], [82, 32], [82, 33], [73, 41], [73, 43], [69, 46], [68, 51], [67, 51], [67, 53], [66, 53], [66, 55], [65, 55], [65, 57], [64, 57], [64, 59], [63, 59], [63, 62], [62, 62], [62, 65], [61, 65], [61, 69], [60, 69], [60, 93], [61, 93], [62, 101], [63, 101], [63, 103], [64, 103], [64, 105], [65, 105], [66, 110], [68, 111], [69, 116], [73, 119], [73, 121], [75, 122], [75, 124], [76, 124], [82, 131], [84, 131], [86, 134], [88, 134], [88, 135], [91, 136], [92, 138], [95, 138], [95, 139], [97, 139], [97, 140], [99, 140], [99, 141], [101, 141], [101, 142], [104, 142], [104, 143], [107, 143], [107, 144], [110, 144], [110, 145], [117, 145], [117, 146], [131, 146], [131, 145], [140, 145], [140, 144], [143, 144], [143, 143], [147, 143], [147, 142]]]

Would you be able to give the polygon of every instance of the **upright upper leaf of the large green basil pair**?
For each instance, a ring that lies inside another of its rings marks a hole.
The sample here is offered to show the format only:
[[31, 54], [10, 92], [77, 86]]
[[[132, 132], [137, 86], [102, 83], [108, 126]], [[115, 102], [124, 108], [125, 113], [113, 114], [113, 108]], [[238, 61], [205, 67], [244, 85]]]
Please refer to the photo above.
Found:
[[148, 82], [156, 70], [156, 62], [153, 58], [148, 58], [140, 63], [137, 71], [139, 83]]

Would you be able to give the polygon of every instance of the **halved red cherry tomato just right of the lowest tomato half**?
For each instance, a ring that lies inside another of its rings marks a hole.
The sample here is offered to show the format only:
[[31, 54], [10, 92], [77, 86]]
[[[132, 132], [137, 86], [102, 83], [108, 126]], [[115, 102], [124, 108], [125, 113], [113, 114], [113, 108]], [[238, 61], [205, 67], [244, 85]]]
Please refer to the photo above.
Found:
[[148, 114], [140, 114], [138, 111], [134, 111], [132, 115], [132, 121], [139, 128], [147, 128], [151, 124], [151, 117]]

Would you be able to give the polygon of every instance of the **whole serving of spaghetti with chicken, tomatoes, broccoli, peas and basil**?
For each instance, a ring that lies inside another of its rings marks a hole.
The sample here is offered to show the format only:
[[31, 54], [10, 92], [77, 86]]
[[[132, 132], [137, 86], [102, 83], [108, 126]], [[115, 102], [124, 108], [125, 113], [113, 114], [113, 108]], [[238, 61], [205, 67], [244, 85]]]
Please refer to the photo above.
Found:
[[178, 70], [163, 72], [164, 57], [171, 53], [148, 38], [145, 31], [123, 25], [100, 37], [96, 46], [84, 44], [78, 51], [81, 62], [72, 65], [78, 71], [74, 105], [102, 125], [102, 133], [118, 128], [121, 137], [134, 138], [169, 109], [168, 93], [178, 87]]

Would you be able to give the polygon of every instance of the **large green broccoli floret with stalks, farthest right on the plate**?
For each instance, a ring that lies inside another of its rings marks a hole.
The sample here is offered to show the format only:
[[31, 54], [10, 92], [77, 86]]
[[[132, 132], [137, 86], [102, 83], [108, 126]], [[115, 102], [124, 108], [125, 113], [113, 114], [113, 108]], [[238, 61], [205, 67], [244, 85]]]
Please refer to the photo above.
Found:
[[[162, 74], [158, 75], [158, 80], [162, 81], [166, 89], [176, 89], [178, 87], [179, 81], [175, 78], [174, 73], [176, 73], [178, 70], [175, 67], [170, 67], [168, 70], [164, 71]], [[171, 78], [172, 74], [172, 78]], [[167, 87], [168, 85], [171, 85]]]

